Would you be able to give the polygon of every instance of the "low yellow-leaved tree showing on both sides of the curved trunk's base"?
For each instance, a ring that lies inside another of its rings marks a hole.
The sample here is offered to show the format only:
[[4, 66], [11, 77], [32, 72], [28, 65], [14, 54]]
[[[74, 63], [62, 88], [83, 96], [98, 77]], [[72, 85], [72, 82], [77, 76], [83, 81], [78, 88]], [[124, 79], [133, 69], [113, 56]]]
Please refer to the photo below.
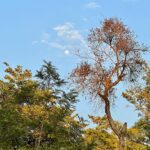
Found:
[[[85, 150], [116, 150], [119, 149], [117, 136], [112, 132], [106, 116], [89, 116], [95, 127], [88, 128], [84, 133]], [[121, 127], [122, 124], [115, 121], [116, 126]], [[128, 129], [128, 137], [126, 139], [126, 150], [146, 150], [146, 145], [140, 140], [134, 139], [141, 136], [143, 132], [137, 128]], [[132, 140], [131, 140], [132, 137]], [[142, 137], [141, 137], [142, 138]]]

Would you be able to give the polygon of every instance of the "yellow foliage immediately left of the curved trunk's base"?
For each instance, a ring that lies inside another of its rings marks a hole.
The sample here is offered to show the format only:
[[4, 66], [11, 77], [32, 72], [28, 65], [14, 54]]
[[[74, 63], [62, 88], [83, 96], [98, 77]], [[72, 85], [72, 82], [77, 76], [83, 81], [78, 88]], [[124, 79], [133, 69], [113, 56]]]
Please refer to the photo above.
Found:
[[118, 148], [117, 137], [111, 133], [106, 116], [89, 116], [96, 127], [88, 128], [84, 134], [86, 150], [115, 150]]

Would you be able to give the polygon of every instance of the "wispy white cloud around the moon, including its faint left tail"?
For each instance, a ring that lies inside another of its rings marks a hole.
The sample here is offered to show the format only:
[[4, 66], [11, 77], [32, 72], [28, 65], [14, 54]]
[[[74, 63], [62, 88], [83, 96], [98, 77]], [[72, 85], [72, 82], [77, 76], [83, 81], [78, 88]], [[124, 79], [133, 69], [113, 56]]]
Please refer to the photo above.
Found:
[[[65, 22], [53, 28], [55, 38], [50, 36], [49, 32], [44, 32], [41, 39], [33, 41], [32, 44], [44, 44], [51, 48], [63, 51], [65, 55], [69, 55], [77, 49], [87, 48], [87, 43], [80, 30], [76, 29], [71, 22]], [[61, 52], [60, 51], [60, 52]]]

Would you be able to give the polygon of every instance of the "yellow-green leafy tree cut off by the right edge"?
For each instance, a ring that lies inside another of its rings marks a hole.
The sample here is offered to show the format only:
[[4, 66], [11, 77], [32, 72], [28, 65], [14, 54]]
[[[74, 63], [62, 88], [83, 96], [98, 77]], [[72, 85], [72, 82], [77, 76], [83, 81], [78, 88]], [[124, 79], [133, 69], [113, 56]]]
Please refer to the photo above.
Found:
[[135, 106], [141, 116], [133, 126], [140, 134], [130, 138], [135, 142], [150, 145], [150, 67], [146, 67], [145, 70], [144, 85], [126, 90], [123, 97]]

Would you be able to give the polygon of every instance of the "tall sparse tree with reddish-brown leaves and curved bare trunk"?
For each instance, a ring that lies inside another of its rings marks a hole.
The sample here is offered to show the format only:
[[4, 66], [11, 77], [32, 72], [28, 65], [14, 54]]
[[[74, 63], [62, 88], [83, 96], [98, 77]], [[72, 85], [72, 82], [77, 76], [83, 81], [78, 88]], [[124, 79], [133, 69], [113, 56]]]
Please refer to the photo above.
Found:
[[105, 19], [102, 26], [92, 29], [89, 37], [89, 53], [72, 71], [71, 79], [76, 88], [87, 92], [93, 99], [102, 101], [109, 125], [124, 149], [127, 123], [121, 128], [115, 125], [110, 107], [115, 98], [115, 88], [123, 81], [135, 82], [142, 73], [145, 61], [141, 54], [146, 47], [140, 45], [120, 20]]

